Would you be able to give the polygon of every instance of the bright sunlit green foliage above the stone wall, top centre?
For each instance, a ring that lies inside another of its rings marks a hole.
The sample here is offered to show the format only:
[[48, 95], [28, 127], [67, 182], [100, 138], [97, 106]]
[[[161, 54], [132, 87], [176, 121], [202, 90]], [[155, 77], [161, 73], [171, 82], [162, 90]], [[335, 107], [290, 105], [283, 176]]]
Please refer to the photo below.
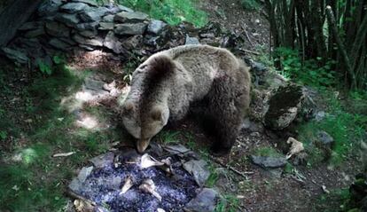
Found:
[[146, 12], [154, 19], [165, 20], [170, 25], [182, 21], [191, 22], [196, 27], [207, 24], [207, 14], [197, 9], [191, 0], [120, 0], [119, 3]]

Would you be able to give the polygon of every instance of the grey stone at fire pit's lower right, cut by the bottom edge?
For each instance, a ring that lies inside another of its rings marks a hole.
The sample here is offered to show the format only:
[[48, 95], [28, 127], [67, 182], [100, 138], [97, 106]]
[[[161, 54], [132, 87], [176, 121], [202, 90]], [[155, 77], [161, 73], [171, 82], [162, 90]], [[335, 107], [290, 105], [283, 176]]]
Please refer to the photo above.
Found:
[[212, 212], [215, 211], [218, 192], [210, 188], [203, 188], [199, 194], [184, 206], [187, 212]]

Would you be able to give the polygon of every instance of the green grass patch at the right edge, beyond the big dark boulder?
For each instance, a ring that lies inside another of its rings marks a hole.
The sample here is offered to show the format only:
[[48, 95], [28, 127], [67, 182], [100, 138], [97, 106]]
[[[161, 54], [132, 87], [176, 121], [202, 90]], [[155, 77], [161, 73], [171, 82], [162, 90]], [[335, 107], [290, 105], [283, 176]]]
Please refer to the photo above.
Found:
[[[309, 154], [310, 165], [329, 160], [331, 165], [339, 166], [345, 161], [348, 153], [359, 147], [363, 133], [367, 130], [367, 116], [355, 114], [353, 109], [346, 109], [341, 105], [340, 100], [328, 91], [324, 91], [323, 95], [328, 104], [329, 115], [321, 122], [311, 121], [301, 125], [299, 139]], [[320, 130], [324, 130], [334, 139], [330, 159], [325, 158], [326, 150], [317, 139], [317, 133]]]

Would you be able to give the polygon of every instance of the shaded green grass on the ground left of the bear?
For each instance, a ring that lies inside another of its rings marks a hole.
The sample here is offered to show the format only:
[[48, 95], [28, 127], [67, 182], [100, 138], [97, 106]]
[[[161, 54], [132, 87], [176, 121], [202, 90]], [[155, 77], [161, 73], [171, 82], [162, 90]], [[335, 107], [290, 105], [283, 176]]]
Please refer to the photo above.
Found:
[[[1, 69], [0, 87], [7, 87], [17, 75], [21, 73], [12, 68]], [[20, 102], [19, 106], [0, 102], [0, 145], [4, 147], [0, 156], [5, 161], [0, 166], [1, 210], [64, 211], [64, 191], [74, 171], [90, 157], [105, 153], [109, 141], [117, 137], [114, 130], [76, 128], [74, 115], [60, 106], [61, 99], [74, 93], [81, 82], [59, 66], [50, 76], [36, 74], [21, 92], [7, 87], [1, 94]], [[102, 121], [105, 117], [94, 108], [87, 111]], [[51, 157], [67, 152], [75, 153], [66, 158]]]

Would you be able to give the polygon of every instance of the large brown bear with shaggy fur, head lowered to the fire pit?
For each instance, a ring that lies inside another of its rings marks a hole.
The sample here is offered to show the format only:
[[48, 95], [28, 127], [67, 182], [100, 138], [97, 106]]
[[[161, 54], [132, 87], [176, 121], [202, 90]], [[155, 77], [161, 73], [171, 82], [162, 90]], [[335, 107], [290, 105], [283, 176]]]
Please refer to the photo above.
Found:
[[132, 75], [122, 122], [142, 153], [168, 121], [201, 108], [215, 136], [213, 151], [229, 153], [250, 103], [246, 64], [230, 51], [184, 45], [153, 54]]

